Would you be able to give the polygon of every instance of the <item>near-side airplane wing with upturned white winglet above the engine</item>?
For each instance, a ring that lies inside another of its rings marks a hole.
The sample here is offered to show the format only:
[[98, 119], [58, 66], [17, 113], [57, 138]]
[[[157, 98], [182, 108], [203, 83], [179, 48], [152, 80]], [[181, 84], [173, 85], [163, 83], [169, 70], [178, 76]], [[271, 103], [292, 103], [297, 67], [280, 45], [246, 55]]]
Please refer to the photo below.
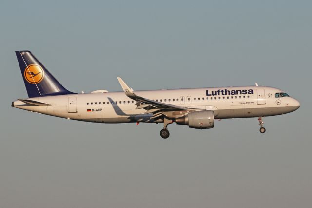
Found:
[[165, 103], [161, 103], [161, 102], [157, 102], [154, 100], [150, 100], [147, 98], [143, 98], [141, 96], [138, 96], [134, 93], [133, 89], [130, 88], [120, 77], [117, 77], [123, 91], [125, 92], [125, 94], [137, 101], [136, 105], [137, 108], [136, 109], [145, 109], [147, 110], [144, 114], [148, 114], [148, 113], [153, 113], [154, 116], [151, 117], [152, 118], [156, 118], [156, 117], [160, 117], [162, 115], [163, 112], [167, 112], [167, 111], [187, 111], [190, 108], [185, 108], [185, 107], [181, 107], [181, 106], [177, 106], [177, 105], [172, 105], [172, 104], [165, 104]]

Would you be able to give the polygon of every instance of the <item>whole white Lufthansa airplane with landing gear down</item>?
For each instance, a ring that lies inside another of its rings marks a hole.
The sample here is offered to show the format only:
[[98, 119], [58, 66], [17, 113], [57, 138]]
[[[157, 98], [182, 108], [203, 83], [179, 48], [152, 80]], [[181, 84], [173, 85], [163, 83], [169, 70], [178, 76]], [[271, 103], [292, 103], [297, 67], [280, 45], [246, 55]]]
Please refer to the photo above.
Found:
[[274, 87], [236, 86], [134, 91], [117, 78], [121, 92], [96, 90], [73, 93], [63, 87], [30, 51], [16, 51], [28, 98], [12, 107], [66, 119], [96, 123], [163, 123], [160, 136], [169, 137], [172, 123], [210, 129], [215, 119], [258, 118], [290, 113], [299, 101]]

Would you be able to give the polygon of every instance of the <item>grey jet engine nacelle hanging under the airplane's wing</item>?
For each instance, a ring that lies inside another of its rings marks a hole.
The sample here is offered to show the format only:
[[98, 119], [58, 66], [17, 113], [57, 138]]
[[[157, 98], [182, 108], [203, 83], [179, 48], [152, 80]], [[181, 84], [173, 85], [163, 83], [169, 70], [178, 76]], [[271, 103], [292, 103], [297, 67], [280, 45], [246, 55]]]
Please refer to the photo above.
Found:
[[190, 128], [207, 129], [215, 125], [215, 114], [211, 110], [201, 110], [188, 113], [176, 119], [176, 124], [188, 125]]

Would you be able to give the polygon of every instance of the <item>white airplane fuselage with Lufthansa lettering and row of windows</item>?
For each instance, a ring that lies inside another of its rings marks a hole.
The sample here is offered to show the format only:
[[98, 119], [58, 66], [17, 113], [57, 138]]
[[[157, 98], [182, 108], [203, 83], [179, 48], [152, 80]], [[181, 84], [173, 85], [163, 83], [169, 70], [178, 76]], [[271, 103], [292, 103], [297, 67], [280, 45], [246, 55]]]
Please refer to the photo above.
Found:
[[[283, 91], [265, 86], [241, 86], [147, 90], [136, 91], [136, 94], [165, 104], [197, 110], [212, 110], [215, 112], [216, 119], [225, 119], [280, 115], [299, 108], [299, 102], [292, 97], [276, 98], [275, 93], [279, 92]], [[12, 106], [88, 122], [163, 122], [162, 119], [150, 119], [152, 114], [146, 114], [145, 109], [136, 109], [136, 101], [127, 97], [124, 92], [44, 96], [31, 98], [31, 100], [49, 105], [32, 106], [15, 101]]]

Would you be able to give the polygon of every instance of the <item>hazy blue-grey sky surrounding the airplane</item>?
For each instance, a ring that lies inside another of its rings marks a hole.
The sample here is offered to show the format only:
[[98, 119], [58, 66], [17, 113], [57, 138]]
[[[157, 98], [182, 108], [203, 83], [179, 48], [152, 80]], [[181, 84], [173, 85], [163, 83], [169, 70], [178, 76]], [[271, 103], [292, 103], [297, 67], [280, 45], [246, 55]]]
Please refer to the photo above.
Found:
[[[312, 1], [0, 3], [0, 207], [308, 208]], [[10, 107], [27, 93], [15, 50], [71, 91], [274, 86], [299, 110], [209, 130], [92, 124]]]

